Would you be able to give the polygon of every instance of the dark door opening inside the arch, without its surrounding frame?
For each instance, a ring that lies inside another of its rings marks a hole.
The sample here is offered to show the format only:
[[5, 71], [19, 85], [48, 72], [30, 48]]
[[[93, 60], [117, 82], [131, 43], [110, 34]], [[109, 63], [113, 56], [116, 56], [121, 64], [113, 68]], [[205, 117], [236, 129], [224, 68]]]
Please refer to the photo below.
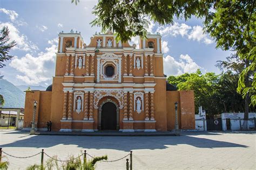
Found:
[[107, 102], [102, 107], [102, 130], [117, 130], [117, 107]]

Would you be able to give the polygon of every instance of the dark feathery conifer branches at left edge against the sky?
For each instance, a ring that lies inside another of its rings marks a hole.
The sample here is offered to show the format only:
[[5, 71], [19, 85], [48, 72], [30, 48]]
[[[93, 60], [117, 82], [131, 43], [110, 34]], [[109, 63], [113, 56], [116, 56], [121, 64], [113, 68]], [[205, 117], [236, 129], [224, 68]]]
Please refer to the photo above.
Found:
[[[4, 26], [0, 33], [0, 68], [3, 68], [4, 61], [10, 60], [13, 56], [9, 55], [9, 51], [16, 45], [15, 41], [10, 41], [8, 27]], [[3, 76], [0, 76], [0, 79]]]

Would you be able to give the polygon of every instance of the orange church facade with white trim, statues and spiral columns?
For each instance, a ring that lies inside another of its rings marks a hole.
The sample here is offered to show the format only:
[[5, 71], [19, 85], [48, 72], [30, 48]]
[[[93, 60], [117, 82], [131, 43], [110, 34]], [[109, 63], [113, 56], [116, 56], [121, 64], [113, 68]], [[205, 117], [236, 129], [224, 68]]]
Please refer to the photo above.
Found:
[[86, 45], [78, 32], [59, 33], [56, 71], [46, 91], [26, 92], [24, 128], [53, 131], [174, 129], [178, 102], [180, 129], [194, 129], [193, 91], [166, 90], [160, 34], [139, 39], [139, 48], [96, 33]]

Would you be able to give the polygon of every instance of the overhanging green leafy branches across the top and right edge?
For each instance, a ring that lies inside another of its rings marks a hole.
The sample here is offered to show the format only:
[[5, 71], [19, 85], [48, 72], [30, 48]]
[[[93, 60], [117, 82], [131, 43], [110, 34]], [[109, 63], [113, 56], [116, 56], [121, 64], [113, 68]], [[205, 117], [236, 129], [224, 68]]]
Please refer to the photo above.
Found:
[[[73, 2], [73, 0], [72, 0]], [[209, 1], [145, 1], [99, 0], [93, 13], [92, 26], [102, 31], [113, 29], [117, 39], [127, 41], [133, 36], [146, 36], [150, 20], [160, 25], [172, 24], [174, 17], [204, 19], [204, 31], [215, 40], [216, 47], [234, 50], [240, 59], [246, 60], [246, 68], [239, 76], [238, 90], [244, 97], [252, 94], [256, 105], [256, 78], [253, 74], [251, 87], [247, 86], [249, 72], [255, 72], [255, 0]]]

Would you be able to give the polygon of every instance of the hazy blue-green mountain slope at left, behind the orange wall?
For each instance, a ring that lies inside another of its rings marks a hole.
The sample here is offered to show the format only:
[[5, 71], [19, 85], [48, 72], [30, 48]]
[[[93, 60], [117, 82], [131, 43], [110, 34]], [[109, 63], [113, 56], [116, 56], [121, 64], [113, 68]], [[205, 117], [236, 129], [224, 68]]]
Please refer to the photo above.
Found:
[[11, 82], [0, 79], [0, 94], [5, 101], [3, 108], [24, 108], [25, 93]]

